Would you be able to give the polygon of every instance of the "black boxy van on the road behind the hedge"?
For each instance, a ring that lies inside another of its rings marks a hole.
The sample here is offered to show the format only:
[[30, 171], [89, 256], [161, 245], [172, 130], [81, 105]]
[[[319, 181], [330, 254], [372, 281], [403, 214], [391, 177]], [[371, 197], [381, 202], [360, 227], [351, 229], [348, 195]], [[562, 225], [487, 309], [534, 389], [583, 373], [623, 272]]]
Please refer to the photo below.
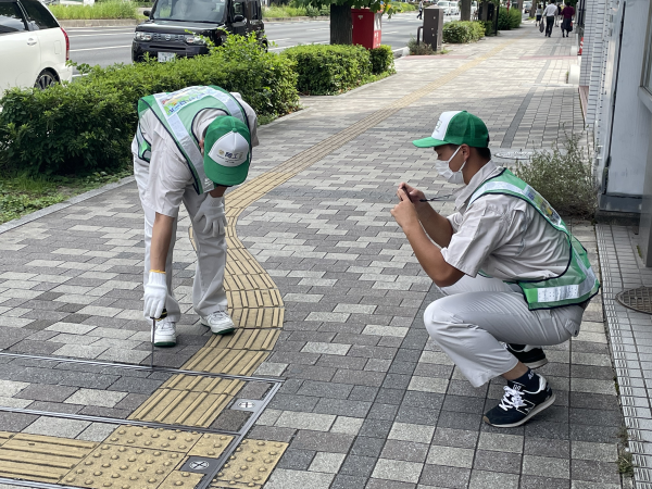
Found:
[[261, 0], [156, 0], [149, 21], [136, 26], [131, 60], [142, 61], [145, 53], [159, 61], [193, 57], [209, 52], [205, 36], [220, 46], [227, 34], [256, 37], [266, 47]]

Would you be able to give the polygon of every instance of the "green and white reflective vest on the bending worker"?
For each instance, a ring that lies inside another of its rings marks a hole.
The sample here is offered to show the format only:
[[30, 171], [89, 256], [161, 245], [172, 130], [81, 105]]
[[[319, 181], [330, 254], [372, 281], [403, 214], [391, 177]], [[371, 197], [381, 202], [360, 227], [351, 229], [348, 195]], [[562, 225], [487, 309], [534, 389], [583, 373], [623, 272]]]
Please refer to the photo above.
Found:
[[[220, 109], [249, 127], [247, 113], [240, 102], [228, 91], [213, 85], [188, 87], [170, 93], [154, 93], [138, 100], [138, 120], [141, 121], [148, 111], [152, 111], [165, 126], [192, 173], [193, 187], [199, 195], [215, 188], [215, 184], [206, 177], [199, 141], [192, 134], [192, 122], [204, 109]], [[142, 135], [140, 122], [136, 130], [136, 141], [138, 158], [149, 163], [152, 148]]]

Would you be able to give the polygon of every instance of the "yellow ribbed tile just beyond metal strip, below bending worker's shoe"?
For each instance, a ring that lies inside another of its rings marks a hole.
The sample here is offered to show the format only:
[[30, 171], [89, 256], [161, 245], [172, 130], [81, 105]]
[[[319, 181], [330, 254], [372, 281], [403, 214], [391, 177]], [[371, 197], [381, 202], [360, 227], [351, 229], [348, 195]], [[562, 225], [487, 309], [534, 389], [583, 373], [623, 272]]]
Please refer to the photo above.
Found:
[[183, 368], [215, 374], [249, 375], [267, 358], [265, 351], [200, 349]]

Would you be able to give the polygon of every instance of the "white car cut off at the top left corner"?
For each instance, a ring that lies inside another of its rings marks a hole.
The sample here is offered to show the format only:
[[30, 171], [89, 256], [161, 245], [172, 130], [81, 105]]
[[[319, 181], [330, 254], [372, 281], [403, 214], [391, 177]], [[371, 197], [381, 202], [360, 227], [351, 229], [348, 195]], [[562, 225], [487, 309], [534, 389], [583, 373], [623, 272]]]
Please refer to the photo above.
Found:
[[70, 82], [67, 34], [38, 0], [0, 0], [0, 96], [12, 87]]

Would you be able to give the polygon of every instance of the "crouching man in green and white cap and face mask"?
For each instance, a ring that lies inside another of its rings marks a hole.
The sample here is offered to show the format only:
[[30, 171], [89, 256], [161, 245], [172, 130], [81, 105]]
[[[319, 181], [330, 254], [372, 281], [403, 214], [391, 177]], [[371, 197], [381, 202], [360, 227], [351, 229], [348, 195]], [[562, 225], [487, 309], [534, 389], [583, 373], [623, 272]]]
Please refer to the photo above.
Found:
[[424, 313], [430, 338], [473, 387], [506, 379], [502, 400], [484, 421], [515, 427], [554, 402], [546, 378], [531, 369], [548, 362], [540, 346], [579, 334], [600, 284], [559, 214], [493, 163], [488, 145], [481, 120], [443, 112], [432, 136], [414, 146], [434, 148], [439, 174], [464, 185], [456, 212], [440, 215], [421, 190], [401, 183], [391, 214], [446, 296]]

